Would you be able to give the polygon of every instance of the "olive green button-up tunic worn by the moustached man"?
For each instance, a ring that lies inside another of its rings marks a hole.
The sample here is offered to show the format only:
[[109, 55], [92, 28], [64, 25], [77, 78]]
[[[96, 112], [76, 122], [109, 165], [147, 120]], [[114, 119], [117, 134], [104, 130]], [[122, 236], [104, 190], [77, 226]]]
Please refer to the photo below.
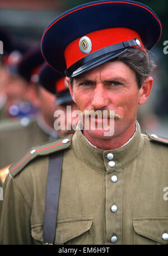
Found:
[[[79, 130], [68, 143], [54, 244], [167, 244], [162, 239], [168, 232], [167, 141], [151, 140], [138, 125], [132, 140], [116, 150], [91, 146]], [[108, 164], [109, 152], [114, 167]], [[47, 154], [16, 168], [6, 179], [0, 201], [1, 244], [43, 243]]]

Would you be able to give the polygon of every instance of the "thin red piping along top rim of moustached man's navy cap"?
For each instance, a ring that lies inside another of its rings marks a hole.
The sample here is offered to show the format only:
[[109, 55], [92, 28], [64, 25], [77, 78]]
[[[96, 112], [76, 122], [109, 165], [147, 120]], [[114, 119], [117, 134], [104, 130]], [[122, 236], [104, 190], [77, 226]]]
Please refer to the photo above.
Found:
[[[143, 8], [144, 10], [150, 12], [150, 14], [157, 20], [157, 22], [160, 24], [161, 33], [162, 33], [162, 26], [161, 26], [160, 21], [157, 19], [157, 17], [156, 17], [150, 10], [148, 10], [148, 8], [146, 8], [146, 7], [144, 7], [144, 6], [138, 5], [138, 4], [136, 4], [136, 3], [128, 3], [128, 2], [122, 2], [122, 1], [116, 1], [116, 2], [112, 2], [112, 1], [111, 1], [111, 2], [103, 2], [103, 3], [94, 3], [94, 4], [92, 4], [92, 5], [83, 6], [83, 7], [78, 8], [77, 10], [73, 10], [73, 11], [71, 11], [71, 12], [68, 12], [68, 14], [66, 14], [66, 15], [64, 15], [64, 16], [62, 16], [62, 17], [60, 17], [58, 20], [55, 20], [55, 22], [54, 22], [52, 25], [50, 25], [50, 26], [48, 27], [48, 29], [45, 30], [45, 32], [44, 32], [44, 34], [43, 34], [43, 37], [42, 37], [42, 39], [41, 39], [41, 53], [42, 53], [42, 55], [43, 55], [42, 43], [43, 43], [44, 36], [45, 36], [46, 32], [48, 32], [48, 30], [49, 30], [50, 28], [52, 28], [52, 26], [53, 26], [55, 23], [57, 23], [59, 20], [62, 20], [64, 17], [66, 17], [66, 16], [72, 14], [73, 12], [79, 11], [79, 10], [84, 9], [84, 8], [87, 8], [87, 7], [95, 6], [95, 5], [103, 5], [103, 4], [105, 4], [105, 3], [127, 3], [128, 5], [134, 5], [134, 6], [138, 6], [138, 7]], [[160, 33], [160, 37], [158, 38], [158, 41], [160, 41], [161, 33]], [[157, 42], [158, 42], [158, 41], [157, 41]], [[157, 44], [157, 42], [156, 42], [156, 44]], [[155, 44], [155, 45], [156, 45], [156, 44]], [[153, 47], [154, 47], [154, 46], [153, 46]], [[43, 57], [44, 57], [44, 55], [43, 55]], [[48, 61], [45, 59], [45, 57], [44, 57], [44, 60], [48, 63]], [[49, 63], [48, 63], [48, 64], [49, 64]], [[49, 64], [49, 66], [52, 67], [52, 65], [50, 65], [50, 64]], [[52, 67], [52, 68], [53, 68], [53, 67]], [[54, 69], [54, 70], [56, 70], [56, 69]], [[57, 71], [57, 70], [56, 70], [56, 71]], [[59, 72], [59, 71], [58, 71], [58, 72]]]

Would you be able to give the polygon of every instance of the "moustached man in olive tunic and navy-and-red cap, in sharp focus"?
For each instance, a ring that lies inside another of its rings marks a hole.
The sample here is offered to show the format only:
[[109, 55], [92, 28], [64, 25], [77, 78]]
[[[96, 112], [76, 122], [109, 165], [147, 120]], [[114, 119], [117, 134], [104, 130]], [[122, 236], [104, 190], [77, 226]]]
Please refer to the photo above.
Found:
[[13, 164], [1, 203], [2, 244], [168, 243], [168, 140], [142, 134], [136, 122], [153, 85], [147, 50], [160, 36], [155, 12], [127, 0], [75, 7], [46, 28], [46, 61], [66, 70], [82, 113], [114, 111], [114, 134], [105, 136], [95, 118], [95, 129], [79, 124], [73, 137], [33, 147]]

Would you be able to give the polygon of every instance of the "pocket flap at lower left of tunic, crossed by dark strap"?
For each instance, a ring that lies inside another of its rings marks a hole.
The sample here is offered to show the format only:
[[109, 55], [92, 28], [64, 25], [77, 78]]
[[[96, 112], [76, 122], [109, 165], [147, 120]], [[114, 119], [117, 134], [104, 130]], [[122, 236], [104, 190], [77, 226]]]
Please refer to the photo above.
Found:
[[[92, 218], [75, 218], [57, 221], [54, 244], [64, 244], [90, 230]], [[31, 235], [35, 240], [43, 242], [43, 223], [31, 227]]]

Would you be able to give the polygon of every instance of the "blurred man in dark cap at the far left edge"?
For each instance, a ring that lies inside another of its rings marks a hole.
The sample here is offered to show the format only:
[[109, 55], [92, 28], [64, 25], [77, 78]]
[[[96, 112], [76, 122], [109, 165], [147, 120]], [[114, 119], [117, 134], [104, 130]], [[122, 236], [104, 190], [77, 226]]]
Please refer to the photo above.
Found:
[[11, 32], [2, 28], [0, 41], [3, 42], [3, 54], [0, 55], [0, 120], [3, 120], [16, 118], [16, 105], [18, 109], [18, 102], [27, 100], [27, 87], [24, 79], [17, 75], [16, 66], [29, 46], [16, 41]]

